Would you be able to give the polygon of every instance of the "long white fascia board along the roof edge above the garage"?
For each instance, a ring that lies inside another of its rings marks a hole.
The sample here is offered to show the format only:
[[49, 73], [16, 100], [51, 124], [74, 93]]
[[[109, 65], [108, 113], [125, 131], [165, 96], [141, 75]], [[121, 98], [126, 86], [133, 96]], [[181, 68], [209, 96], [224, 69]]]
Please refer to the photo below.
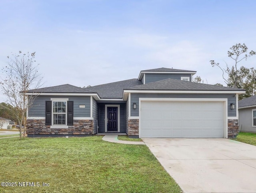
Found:
[[245, 91], [215, 90], [124, 90], [127, 93], [161, 93], [161, 94], [244, 94]]

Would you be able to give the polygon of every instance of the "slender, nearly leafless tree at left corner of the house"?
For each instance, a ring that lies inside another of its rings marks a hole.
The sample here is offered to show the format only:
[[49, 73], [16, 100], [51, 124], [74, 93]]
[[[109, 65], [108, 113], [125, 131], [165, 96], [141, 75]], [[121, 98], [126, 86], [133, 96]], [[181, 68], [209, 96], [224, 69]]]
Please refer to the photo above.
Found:
[[26, 92], [42, 86], [42, 76], [38, 74], [39, 64], [35, 64], [35, 52], [22, 54], [20, 51], [19, 55], [12, 54], [7, 58], [7, 66], [2, 69], [6, 77], [2, 78], [0, 83], [7, 102], [13, 107], [9, 110], [19, 124], [20, 139], [22, 139], [22, 135], [23, 138], [26, 135], [26, 112], [37, 96], [27, 97]]

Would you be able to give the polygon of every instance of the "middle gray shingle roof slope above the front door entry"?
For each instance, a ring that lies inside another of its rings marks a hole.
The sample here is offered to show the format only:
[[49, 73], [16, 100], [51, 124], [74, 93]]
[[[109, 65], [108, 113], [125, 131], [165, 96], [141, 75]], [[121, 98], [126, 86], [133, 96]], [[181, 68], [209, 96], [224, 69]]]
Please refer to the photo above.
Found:
[[101, 98], [122, 98], [123, 90], [126, 88], [141, 85], [142, 82], [136, 78], [130, 80], [123, 80], [119, 82], [112, 82], [86, 88], [91, 92], [97, 92]]

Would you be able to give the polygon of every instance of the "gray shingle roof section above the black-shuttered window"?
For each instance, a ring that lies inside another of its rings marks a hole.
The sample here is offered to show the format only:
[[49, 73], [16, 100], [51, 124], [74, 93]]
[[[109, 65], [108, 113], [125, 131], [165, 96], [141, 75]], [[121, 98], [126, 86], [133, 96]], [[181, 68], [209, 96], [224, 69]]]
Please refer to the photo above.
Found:
[[92, 93], [91, 91], [73, 86], [70, 84], [63, 84], [59, 86], [51, 86], [45, 88], [38, 88], [34, 90], [28, 90], [27, 92], [42, 92], [42, 93]]

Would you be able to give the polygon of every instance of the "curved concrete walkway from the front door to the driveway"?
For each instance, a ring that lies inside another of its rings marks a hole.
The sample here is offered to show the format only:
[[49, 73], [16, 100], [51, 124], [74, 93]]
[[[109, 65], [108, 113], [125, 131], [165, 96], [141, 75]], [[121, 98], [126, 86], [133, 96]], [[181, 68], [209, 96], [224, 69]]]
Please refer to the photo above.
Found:
[[118, 135], [126, 135], [126, 133], [98, 133], [98, 135], [104, 135], [104, 137], [102, 137], [102, 140], [112, 143], [145, 145], [143, 141], [123, 141], [117, 139]]

